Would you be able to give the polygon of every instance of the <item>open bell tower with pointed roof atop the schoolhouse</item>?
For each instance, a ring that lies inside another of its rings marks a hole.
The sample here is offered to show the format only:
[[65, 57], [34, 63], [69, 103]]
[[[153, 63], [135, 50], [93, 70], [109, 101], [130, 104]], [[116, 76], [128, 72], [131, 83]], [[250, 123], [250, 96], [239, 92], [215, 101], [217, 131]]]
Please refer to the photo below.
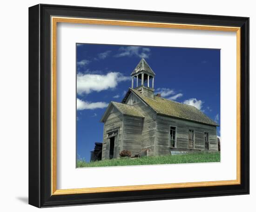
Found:
[[131, 73], [132, 88], [146, 97], [154, 98], [155, 73], [143, 58]]

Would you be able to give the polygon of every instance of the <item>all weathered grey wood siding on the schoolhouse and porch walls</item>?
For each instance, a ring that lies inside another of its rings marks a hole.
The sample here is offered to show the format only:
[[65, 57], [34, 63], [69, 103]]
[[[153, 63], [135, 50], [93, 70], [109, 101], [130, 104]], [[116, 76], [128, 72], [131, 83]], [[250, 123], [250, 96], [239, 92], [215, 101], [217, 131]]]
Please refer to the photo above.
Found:
[[[171, 150], [205, 151], [205, 132], [209, 133], [209, 151], [218, 151], [216, 126], [157, 115], [133, 93], [130, 93], [126, 104], [133, 105], [144, 118], [123, 115], [113, 107], [104, 123], [102, 159], [109, 158], [108, 133], [117, 129], [119, 133], [115, 136], [114, 158], [119, 157], [121, 150], [129, 150], [134, 156], [143, 148], [150, 148], [155, 156], [170, 154]], [[174, 148], [169, 146], [170, 126], [176, 127]], [[189, 148], [189, 129], [195, 134], [194, 148]]]

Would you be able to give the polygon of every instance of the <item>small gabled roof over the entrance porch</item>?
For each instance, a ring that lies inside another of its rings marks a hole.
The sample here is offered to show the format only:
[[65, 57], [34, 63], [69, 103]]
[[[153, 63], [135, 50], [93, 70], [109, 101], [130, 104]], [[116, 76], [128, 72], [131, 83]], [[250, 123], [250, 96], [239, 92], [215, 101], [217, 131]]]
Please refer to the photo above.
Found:
[[107, 110], [103, 114], [103, 117], [101, 118], [101, 122], [104, 122], [107, 119], [108, 113], [111, 111], [113, 106], [123, 115], [144, 118], [144, 116], [138, 110], [136, 110], [134, 106], [111, 101]]

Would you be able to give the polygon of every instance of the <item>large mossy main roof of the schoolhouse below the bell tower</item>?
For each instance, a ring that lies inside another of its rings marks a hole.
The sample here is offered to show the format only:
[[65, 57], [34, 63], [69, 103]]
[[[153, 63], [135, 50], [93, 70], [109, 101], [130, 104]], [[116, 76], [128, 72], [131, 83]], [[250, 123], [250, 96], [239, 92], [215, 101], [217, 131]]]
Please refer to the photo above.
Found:
[[[194, 106], [185, 105], [173, 100], [154, 96], [154, 99], [145, 97], [135, 89], [129, 88], [130, 92], [135, 93], [140, 99], [142, 99], [148, 106], [150, 106], [156, 113], [176, 117], [180, 119], [187, 119], [203, 124], [219, 126], [215, 121], [210, 119], [200, 110]], [[127, 95], [129, 94], [129, 91]]]

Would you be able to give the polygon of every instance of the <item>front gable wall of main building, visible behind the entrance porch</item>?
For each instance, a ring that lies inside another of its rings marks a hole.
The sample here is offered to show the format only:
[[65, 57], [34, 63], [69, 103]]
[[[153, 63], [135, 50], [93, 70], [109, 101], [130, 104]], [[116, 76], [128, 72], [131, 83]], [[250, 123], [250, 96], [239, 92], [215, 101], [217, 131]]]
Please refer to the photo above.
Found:
[[135, 99], [133, 105], [143, 116], [143, 127], [141, 133], [141, 148], [150, 148], [154, 152], [155, 147], [155, 130], [156, 130], [156, 113], [147, 105], [145, 105], [141, 99], [131, 93], [126, 101], [126, 104], [132, 103], [131, 99]]

